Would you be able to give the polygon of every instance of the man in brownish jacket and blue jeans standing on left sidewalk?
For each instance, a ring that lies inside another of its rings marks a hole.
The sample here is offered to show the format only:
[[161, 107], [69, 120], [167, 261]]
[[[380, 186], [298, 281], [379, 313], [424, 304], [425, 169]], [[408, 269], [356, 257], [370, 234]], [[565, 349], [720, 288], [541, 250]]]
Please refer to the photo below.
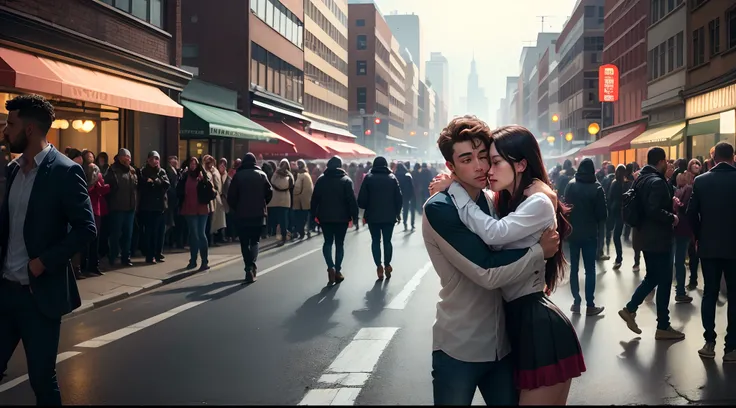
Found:
[[105, 174], [105, 183], [110, 185], [108, 206], [110, 209], [110, 265], [120, 255], [120, 264], [133, 266], [130, 261], [133, 223], [138, 203], [138, 173], [130, 164], [130, 151], [120, 149], [115, 162]]

